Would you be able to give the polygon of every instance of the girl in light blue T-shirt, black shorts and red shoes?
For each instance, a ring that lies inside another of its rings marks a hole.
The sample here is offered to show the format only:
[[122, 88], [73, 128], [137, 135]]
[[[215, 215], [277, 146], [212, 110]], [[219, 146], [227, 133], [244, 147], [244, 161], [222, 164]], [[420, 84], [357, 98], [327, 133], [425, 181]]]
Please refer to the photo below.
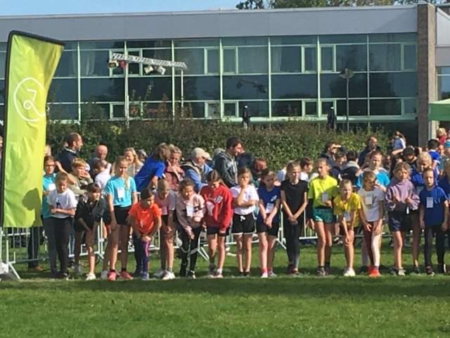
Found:
[[108, 258], [110, 261], [110, 273], [108, 280], [114, 282], [117, 278], [115, 264], [117, 262], [117, 251], [120, 242], [120, 263], [122, 269], [120, 277], [124, 280], [132, 280], [133, 277], [127, 273], [128, 241], [130, 227], [127, 223], [129, 209], [132, 204], [136, 204], [136, 184], [128, 176], [128, 161], [124, 156], [120, 156], [115, 161], [114, 176], [108, 181], [105, 187], [106, 201], [111, 215], [110, 234], [108, 234]]

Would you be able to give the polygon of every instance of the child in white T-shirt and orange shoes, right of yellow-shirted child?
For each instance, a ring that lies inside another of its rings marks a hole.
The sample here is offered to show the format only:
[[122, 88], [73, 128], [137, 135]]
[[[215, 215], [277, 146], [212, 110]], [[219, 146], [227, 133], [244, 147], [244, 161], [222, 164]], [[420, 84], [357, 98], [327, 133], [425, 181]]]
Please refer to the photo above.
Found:
[[363, 187], [359, 189], [361, 211], [359, 218], [363, 225], [364, 242], [366, 243], [371, 266], [368, 268], [370, 277], [380, 277], [380, 242], [383, 233], [383, 204], [385, 193], [375, 187], [376, 175], [371, 171], [363, 174]]

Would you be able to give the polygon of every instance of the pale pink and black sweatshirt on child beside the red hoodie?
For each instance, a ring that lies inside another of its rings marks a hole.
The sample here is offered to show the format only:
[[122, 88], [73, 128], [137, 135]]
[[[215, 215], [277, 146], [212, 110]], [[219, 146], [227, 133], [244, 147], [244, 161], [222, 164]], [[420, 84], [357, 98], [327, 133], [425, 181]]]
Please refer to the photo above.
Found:
[[[181, 194], [176, 196], [176, 219], [188, 234], [192, 229], [200, 227], [201, 219], [205, 214], [205, 200], [199, 194], [193, 194], [191, 199], [184, 199]], [[194, 218], [200, 218], [200, 222], [194, 222]]]

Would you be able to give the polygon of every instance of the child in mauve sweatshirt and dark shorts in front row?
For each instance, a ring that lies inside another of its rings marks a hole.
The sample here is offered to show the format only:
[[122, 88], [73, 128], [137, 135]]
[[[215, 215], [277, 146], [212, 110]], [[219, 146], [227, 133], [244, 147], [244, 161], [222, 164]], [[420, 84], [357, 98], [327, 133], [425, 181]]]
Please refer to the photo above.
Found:
[[404, 276], [405, 270], [401, 264], [401, 250], [403, 249], [403, 234], [409, 227], [410, 211], [416, 211], [419, 198], [413, 183], [409, 180], [411, 168], [408, 163], [400, 162], [395, 165], [393, 180], [385, 196], [386, 209], [389, 216], [389, 229], [394, 239], [394, 269], [392, 274]]

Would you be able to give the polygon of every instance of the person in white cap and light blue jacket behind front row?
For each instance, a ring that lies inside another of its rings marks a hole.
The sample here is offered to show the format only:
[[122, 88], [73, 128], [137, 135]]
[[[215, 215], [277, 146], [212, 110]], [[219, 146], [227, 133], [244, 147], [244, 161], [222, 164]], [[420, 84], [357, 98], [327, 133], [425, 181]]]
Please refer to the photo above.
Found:
[[199, 192], [207, 184], [206, 177], [212, 169], [206, 164], [211, 156], [202, 148], [194, 148], [191, 152], [191, 159], [181, 165], [184, 170], [184, 177], [194, 182], [195, 192]]

